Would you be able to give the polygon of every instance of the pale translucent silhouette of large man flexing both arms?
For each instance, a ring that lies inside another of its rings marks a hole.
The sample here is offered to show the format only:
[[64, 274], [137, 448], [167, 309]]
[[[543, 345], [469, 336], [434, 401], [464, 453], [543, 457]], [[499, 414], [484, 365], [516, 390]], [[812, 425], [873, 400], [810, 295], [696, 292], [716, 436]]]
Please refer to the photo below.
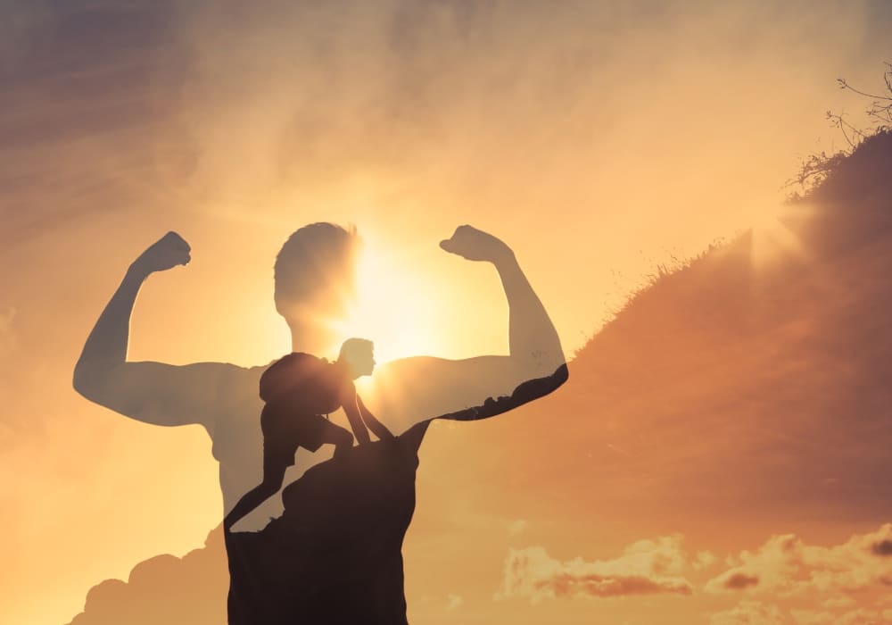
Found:
[[[277, 255], [274, 299], [291, 329], [293, 352], [325, 354], [335, 343], [330, 321], [346, 312], [358, 244], [351, 229], [314, 223], [295, 231]], [[440, 245], [451, 254], [495, 267], [508, 299], [509, 354], [466, 360], [416, 356], [379, 366], [376, 393], [367, 399], [395, 434], [432, 415], [483, 404], [489, 396], [510, 395], [524, 380], [549, 376], [565, 363], [558, 333], [508, 246], [471, 226], [460, 226]], [[127, 357], [130, 315], [140, 287], [154, 273], [185, 265], [190, 252], [182, 237], [169, 232], [129, 266], [87, 337], [74, 370], [74, 387], [96, 404], [137, 421], [163, 426], [200, 423], [219, 461], [226, 514], [262, 481], [262, 432], [253, 415], [262, 407], [257, 388], [266, 367], [226, 362], [172, 365]], [[290, 483], [324, 460], [325, 454], [301, 454], [288, 470], [293, 475], [285, 480]], [[239, 528], [262, 529], [281, 512], [280, 498], [269, 497]]]

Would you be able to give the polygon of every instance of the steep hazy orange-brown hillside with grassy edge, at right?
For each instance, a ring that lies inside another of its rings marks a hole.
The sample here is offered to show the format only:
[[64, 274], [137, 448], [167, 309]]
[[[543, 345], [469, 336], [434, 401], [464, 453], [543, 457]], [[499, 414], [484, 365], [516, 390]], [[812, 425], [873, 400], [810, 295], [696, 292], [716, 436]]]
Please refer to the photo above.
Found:
[[788, 206], [780, 243], [747, 232], [661, 275], [576, 354], [565, 388], [446, 433], [444, 455], [491, 450], [473, 471], [541, 504], [888, 519], [889, 180], [880, 133]]

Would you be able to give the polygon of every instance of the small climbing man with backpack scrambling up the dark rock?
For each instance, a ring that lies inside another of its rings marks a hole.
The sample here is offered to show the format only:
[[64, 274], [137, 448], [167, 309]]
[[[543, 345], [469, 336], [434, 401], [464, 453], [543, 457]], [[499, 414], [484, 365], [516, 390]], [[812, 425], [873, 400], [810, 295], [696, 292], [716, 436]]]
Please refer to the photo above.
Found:
[[390, 430], [368, 411], [356, 392], [353, 380], [371, 375], [375, 369], [374, 346], [365, 338], [348, 338], [335, 362], [295, 352], [269, 365], [260, 377], [260, 412], [263, 432], [263, 481], [235, 504], [223, 521], [232, 528], [282, 487], [285, 470], [293, 465], [298, 447], [315, 452], [325, 443], [335, 446], [335, 457], [353, 445], [349, 431], [322, 415], [343, 407], [359, 444], [376, 437], [392, 439]]

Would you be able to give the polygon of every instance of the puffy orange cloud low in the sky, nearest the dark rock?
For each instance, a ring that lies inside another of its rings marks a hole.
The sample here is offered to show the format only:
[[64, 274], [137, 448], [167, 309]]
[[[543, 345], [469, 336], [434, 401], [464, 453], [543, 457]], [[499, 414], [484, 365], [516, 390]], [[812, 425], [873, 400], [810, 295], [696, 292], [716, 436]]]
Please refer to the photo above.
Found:
[[595, 562], [578, 557], [560, 562], [541, 546], [512, 549], [497, 598], [523, 596], [538, 602], [572, 596], [690, 595], [693, 586], [681, 576], [688, 563], [678, 536], [640, 540], [614, 560]]

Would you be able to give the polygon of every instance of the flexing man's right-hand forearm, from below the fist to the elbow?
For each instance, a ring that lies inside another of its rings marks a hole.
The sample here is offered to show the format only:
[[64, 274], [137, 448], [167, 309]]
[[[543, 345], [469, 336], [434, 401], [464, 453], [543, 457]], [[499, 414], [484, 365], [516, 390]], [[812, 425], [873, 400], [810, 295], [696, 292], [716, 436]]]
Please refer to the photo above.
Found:
[[549, 374], [565, 361], [558, 331], [513, 252], [493, 263], [508, 298], [508, 349], [512, 358]]

